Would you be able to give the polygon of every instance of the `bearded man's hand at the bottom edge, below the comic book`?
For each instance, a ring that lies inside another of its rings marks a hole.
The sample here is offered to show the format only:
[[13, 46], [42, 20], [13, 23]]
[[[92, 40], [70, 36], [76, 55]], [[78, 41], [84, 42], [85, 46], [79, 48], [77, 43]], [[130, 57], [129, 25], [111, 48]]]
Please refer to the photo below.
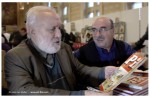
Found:
[[104, 92], [94, 92], [90, 90], [85, 90], [85, 96], [110, 96], [112, 92], [104, 93]]

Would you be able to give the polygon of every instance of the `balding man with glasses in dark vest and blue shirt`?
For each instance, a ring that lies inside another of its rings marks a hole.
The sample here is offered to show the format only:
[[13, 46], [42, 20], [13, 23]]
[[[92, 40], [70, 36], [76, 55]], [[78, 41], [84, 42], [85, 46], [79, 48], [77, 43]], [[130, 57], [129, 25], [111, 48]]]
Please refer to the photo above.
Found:
[[[114, 39], [113, 21], [107, 17], [97, 18], [89, 31], [92, 33], [93, 41], [74, 52], [82, 64], [119, 67], [136, 52], [128, 43]], [[140, 69], [143, 69], [143, 66]]]

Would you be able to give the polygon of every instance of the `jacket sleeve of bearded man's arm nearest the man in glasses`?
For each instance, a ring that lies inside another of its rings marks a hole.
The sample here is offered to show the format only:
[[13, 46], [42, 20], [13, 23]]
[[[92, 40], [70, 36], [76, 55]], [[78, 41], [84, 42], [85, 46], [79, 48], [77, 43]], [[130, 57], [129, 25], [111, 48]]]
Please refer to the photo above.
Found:
[[76, 77], [89, 86], [97, 87], [101, 81], [105, 79], [104, 67], [89, 67], [81, 64], [72, 54], [71, 48], [66, 45], [72, 69], [76, 72]]

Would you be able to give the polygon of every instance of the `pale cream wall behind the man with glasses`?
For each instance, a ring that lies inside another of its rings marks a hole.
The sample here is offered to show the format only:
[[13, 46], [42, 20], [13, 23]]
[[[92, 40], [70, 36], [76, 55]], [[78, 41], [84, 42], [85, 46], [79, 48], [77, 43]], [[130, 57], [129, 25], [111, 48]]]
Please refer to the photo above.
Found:
[[[141, 17], [139, 16], [139, 14], [141, 14]], [[148, 7], [121, 11], [102, 16], [109, 17], [114, 22], [115, 19], [118, 17], [119, 21], [123, 21], [126, 23], [126, 32], [125, 32], [126, 42], [137, 41], [145, 33], [146, 27], [148, 25]], [[86, 27], [87, 25], [91, 26], [96, 18], [97, 17], [72, 21], [75, 24], [75, 32], [81, 32], [82, 28]], [[71, 23], [65, 24], [65, 29], [68, 33], [70, 33], [71, 31]]]

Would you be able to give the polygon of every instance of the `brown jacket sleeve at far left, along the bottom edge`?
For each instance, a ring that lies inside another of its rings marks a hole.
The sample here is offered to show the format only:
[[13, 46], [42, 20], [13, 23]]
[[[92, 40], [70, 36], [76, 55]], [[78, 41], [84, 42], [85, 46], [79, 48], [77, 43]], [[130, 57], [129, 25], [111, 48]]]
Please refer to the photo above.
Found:
[[[23, 54], [22, 54], [23, 55]], [[5, 75], [9, 87], [9, 94], [13, 95], [84, 95], [83, 91], [67, 91], [44, 87], [37, 76], [36, 81], [24, 60], [16, 51], [9, 51], [5, 56]], [[27, 62], [29, 62], [27, 60]], [[32, 66], [33, 67], [33, 66]], [[32, 69], [32, 68], [31, 68]], [[37, 82], [37, 83], [36, 83]]]

